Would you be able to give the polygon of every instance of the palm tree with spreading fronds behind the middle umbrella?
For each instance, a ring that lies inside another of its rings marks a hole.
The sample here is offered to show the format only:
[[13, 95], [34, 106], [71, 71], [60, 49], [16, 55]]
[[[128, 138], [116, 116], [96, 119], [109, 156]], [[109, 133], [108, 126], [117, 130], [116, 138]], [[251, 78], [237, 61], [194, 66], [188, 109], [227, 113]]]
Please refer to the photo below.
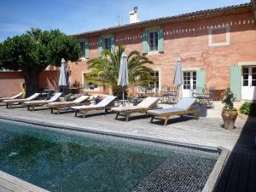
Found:
[[[87, 61], [89, 73], [85, 73], [86, 80], [102, 86], [109, 86], [113, 90], [113, 95], [121, 98], [122, 87], [117, 85], [119, 78], [119, 65], [121, 55], [125, 51], [123, 45], [119, 45], [116, 52], [104, 50], [102, 57]], [[131, 51], [127, 56], [127, 65], [129, 73], [129, 84], [131, 86], [148, 84], [149, 81], [154, 81], [151, 73], [153, 70], [148, 65], [153, 62], [148, 60], [144, 55], [141, 55], [137, 50]], [[127, 96], [127, 88], [125, 89]]]

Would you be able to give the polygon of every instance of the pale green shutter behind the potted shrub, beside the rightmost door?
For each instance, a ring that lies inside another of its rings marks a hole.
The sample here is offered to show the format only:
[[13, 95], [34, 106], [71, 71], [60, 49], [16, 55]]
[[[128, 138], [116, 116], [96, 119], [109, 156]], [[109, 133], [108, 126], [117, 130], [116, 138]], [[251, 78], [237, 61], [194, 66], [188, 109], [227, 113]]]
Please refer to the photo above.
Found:
[[241, 100], [241, 66], [230, 68], [230, 90], [236, 96], [236, 100]]

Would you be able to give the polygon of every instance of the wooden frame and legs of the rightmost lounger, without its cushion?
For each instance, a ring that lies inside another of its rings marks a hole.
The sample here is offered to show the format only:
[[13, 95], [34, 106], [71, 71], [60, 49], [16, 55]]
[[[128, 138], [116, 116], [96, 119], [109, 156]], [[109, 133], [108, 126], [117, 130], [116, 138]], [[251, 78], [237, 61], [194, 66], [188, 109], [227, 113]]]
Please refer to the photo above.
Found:
[[198, 116], [199, 113], [199, 109], [190, 109], [187, 111], [177, 111], [177, 112], [172, 112], [172, 113], [163, 113], [163, 114], [158, 114], [158, 113], [149, 113], [151, 115], [151, 123], [153, 122], [154, 118], [157, 117], [158, 119], [164, 119], [165, 120], [165, 126], [168, 123], [168, 120], [171, 116], [173, 115], [179, 115], [179, 116], [183, 116], [184, 114], [193, 114], [195, 116], [195, 119], [199, 119]]

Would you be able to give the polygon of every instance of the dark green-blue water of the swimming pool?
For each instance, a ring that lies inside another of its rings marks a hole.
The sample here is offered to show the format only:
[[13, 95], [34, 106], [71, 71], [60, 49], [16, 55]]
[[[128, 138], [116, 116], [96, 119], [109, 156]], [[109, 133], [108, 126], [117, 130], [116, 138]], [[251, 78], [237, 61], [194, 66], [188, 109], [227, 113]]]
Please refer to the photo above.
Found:
[[0, 170], [50, 191], [201, 191], [217, 159], [214, 151], [0, 119]]

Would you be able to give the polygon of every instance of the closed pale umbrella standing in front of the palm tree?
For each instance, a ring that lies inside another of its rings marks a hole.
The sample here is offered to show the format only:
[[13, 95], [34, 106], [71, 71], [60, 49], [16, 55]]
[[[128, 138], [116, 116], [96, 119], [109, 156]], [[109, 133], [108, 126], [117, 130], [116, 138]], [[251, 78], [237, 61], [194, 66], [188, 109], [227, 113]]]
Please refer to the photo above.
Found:
[[125, 87], [129, 84], [127, 55], [125, 52], [121, 55], [120, 67], [119, 67], [119, 80], [118, 85], [123, 88], [123, 105], [125, 105]]

